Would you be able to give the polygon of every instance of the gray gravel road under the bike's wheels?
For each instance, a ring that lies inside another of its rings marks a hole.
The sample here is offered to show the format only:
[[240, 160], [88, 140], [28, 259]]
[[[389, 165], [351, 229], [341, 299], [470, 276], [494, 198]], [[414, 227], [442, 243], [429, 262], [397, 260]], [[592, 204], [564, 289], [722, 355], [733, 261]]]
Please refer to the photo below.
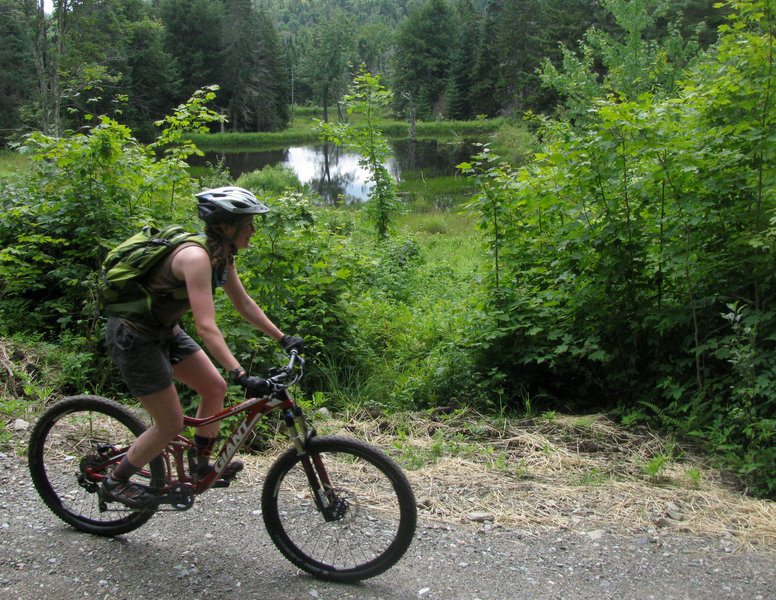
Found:
[[213, 490], [114, 539], [45, 508], [26, 463], [0, 455], [0, 598], [18, 600], [776, 598], [776, 549], [730, 538], [516, 531], [421, 518], [407, 555], [359, 585], [296, 570], [267, 537], [255, 484]]

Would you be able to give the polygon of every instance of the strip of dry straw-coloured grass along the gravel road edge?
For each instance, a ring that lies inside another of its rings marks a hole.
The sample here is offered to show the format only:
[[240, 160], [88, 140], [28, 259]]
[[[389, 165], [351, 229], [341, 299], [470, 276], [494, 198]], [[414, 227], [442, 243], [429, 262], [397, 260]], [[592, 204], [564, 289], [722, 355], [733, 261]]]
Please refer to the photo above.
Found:
[[[776, 503], [747, 496], [699, 454], [601, 415], [489, 424], [458, 413], [319, 419], [320, 433], [358, 437], [407, 471], [421, 516], [579, 532], [665, 529], [776, 549]], [[248, 457], [257, 482], [277, 449]], [[484, 515], [481, 515], [481, 517]]]

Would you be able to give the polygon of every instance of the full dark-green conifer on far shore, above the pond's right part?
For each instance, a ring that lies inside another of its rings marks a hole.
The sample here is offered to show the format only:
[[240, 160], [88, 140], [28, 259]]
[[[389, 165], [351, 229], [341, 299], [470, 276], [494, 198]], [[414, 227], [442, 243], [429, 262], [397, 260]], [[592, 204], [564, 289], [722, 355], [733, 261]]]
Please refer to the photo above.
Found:
[[420, 119], [442, 112], [442, 101], [450, 72], [456, 39], [455, 19], [444, 0], [426, 0], [410, 12], [396, 34], [394, 57], [394, 101], [404, 112], [408, 92]]

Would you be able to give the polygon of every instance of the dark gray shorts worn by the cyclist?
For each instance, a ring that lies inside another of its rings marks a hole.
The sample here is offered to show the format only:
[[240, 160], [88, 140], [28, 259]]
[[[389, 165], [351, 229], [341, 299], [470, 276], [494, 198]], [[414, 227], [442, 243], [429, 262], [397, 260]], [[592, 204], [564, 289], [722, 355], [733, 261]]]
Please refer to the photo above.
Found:
[[115, 317], [105, 326], [105, 342], [129, 391], [137, 398], [168, 388], [173, 382], [173, 365], [201, 350], [183, 329], [169, 339], [151, 339]]

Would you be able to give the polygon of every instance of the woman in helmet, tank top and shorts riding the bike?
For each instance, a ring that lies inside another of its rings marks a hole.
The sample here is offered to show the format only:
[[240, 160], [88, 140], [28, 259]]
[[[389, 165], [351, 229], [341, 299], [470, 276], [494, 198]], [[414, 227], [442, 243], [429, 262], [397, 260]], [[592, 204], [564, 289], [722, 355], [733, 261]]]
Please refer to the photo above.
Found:
[[[154, 294], [148, 322], [108, 319], [105, 339], [130, 392], [153, 417], [154, 424], [141, 434], [101, 488], [108, 501], [132, 508], [156, 503], [153, 493], [130, 477], [155, 458], [183, 429], [183, 410], [173, 379], [190, 386], [200, 396], [197, 417], [223, 410], [227, 383], [200, 346], [178, 324], [191, 310], [197, 333], [213, 358], [229, 373], [229, 379], [248, 395], [267, 393], [266, 380], [248, 375], [234, 357], [216, 326], [213, 291], [223, 287], [235, 309], [251, 325], [278, 341], [286, 351], [302, 352], [302, 338], [283, 334], [247, 294], [235, 269], [235, 255], [248, 248], [256, 232], [254, 215], [269, 208], [248, 190], [222, 187], [196, 195], [198, 214], [205, 222], [206, 250], [197, 243], [183, 243], [155, 265], [145, 277]], [[185, 285], [187, 298], [165, 297], [168, 290]], [[210, 468], [209, 457], [219, 423], [197, 428], [197, 473]], [[243, 465], [230, 463], [223, 477], [234, 477]]]

